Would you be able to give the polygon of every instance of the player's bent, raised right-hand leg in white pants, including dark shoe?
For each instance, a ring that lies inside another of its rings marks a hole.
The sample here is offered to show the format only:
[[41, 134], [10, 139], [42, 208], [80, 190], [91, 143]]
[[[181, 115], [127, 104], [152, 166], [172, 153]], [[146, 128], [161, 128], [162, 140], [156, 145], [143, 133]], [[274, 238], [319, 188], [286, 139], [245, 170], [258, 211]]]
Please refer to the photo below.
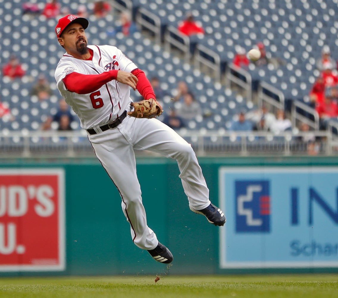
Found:
[[149, 150], [176, 159], [190, 209], [206, 215], [215, 225], [224, 225], [225, 216], [211, 204], [206, 180], [188, 142], [161, 121], [142, 119], [137, 121], [133, 143], [136, 150]]

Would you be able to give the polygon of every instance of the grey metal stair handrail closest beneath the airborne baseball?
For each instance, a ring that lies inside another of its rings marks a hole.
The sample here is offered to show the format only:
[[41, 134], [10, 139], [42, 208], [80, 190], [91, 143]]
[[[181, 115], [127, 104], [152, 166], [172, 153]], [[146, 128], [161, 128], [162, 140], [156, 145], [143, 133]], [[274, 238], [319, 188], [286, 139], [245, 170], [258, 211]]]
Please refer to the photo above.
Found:
[[245, 90], [247, 100], [252, 100], [252, 79], [248, 71], [231, 63], [226, 67], [225, 77], [228, 88], [230, 88], [231, 82], [235, 83]]

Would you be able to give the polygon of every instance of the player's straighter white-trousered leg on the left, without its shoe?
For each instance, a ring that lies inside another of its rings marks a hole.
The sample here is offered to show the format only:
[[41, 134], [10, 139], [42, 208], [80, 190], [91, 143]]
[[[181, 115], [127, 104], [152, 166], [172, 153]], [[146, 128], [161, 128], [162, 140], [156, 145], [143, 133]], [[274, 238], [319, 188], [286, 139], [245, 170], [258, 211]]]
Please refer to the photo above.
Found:
[[91, 135], [89, 139], [97, 158], [120, 192], [122, 210], [130, 224], [132, 240], [141, 249], [154, 249], [158, 240], [147, 226], [132, 145], [117, 129]]

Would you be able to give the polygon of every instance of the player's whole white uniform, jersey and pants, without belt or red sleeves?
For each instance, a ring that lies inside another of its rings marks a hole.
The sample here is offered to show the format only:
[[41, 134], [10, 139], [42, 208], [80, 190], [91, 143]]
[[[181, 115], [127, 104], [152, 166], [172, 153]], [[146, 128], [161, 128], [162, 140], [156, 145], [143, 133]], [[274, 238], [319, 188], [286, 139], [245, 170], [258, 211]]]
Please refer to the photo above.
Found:
[[191, 145], [160, 120], [126, 117], [113, 129], [98, 128], [129, 108], [129, 86], [112, 80], [94, 92], [77, 94], [66, 89], [63, 79], [71, 72], [98, 75], [113, 69], [131, 72], [137, 66], [114, 46], [88, 47], [94, 51], [92, 60], [76, 59], [69, 54], [61, 58], [55, 70], [57, 88], [79, 117], [82, 128], [95, 127], [94, 134], [88, 132], [88, 139], [120, 192], [132, 240], [139, 248], [152, 250], [159, 241], [147, 225], [134, 151], [149, 150], [175, 158], [191, 208], [201, 210], [210, 205], [209, 189]]

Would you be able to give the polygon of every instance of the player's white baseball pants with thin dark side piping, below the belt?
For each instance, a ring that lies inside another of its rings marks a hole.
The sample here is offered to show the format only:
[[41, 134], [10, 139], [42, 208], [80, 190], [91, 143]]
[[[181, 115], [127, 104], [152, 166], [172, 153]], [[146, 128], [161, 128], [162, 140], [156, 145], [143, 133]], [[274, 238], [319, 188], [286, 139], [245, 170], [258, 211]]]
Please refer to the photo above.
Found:
[[200, 210], [210, 205], [209, 189], [191, 145], [158, 119], [126, 117], [118, 127], [88, 138], [121, 194], [122, 210], [139, 248], [154, 249], [158, 240], [147, 225], [134, 150], [149, 150], [176, 159], [189, 206]]

